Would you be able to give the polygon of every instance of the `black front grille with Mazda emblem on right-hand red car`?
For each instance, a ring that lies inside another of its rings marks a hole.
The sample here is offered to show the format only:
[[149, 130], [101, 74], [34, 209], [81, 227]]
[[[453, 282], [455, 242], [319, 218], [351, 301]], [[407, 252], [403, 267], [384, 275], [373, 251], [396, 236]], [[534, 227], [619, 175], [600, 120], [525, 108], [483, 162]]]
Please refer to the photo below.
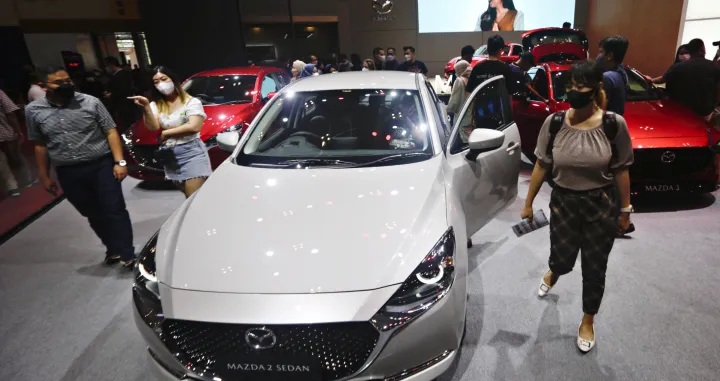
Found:
[[[714, 153], [702, 147], [636, 149], [634, 154], [631, 179], [677, 180], [709, 171], [715, 160]], [[673, 156], [674, 159], [670, 160]]]

